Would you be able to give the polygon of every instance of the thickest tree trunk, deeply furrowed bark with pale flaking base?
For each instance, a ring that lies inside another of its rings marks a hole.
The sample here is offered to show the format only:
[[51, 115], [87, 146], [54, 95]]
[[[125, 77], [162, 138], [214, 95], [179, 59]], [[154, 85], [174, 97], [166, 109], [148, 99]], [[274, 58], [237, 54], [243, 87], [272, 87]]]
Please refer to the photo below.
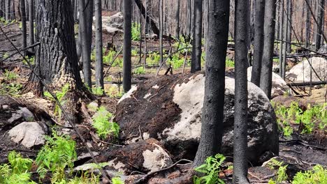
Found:
[[87, 90], [78, 70], [72, 10], [71, 1], [38, 1], [36, 24], [40, 46], [25, 90], [41, 96], [43, 84], [57, 91], [68, 84], [70, 90], [64, 97], [64, 109], [74, 121], [78, 99]]

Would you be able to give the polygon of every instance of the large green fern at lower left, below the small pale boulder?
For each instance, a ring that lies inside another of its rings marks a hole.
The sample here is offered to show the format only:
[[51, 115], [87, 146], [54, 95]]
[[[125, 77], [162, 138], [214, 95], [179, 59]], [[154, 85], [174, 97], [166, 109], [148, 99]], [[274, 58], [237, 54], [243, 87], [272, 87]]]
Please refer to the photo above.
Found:
[[73, 161], [76, 160], [75, 141], [68, 135], [59, 136], [52, 131], [52, 137], [46, 137], [46, 144], [41, 148], [36, 157], [38, 174], [45, 177], [48, 171], [52, 173], [52, 183], [63, 181], [65, 168], [73, 168]]

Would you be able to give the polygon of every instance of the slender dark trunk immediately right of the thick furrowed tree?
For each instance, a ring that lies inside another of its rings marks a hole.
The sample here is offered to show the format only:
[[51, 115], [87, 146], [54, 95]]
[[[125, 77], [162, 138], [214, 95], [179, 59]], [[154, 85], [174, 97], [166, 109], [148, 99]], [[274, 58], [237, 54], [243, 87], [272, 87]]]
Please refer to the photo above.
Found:
[[[90, 54], [89, 54], [89, 45], [87, 43], [87, 15], [85, 9], [85, 1], [81, 0], [78, 1], [79, 6], [78, 9], [80, 11], [80, 44], [81, 44], [81, 51], [82, 51], [82, 63], [83, 63], [83, 73], [84, 73], [84, 83], [90, 89], [92, 88], [92, 80], [91, 80], [91, 61], [90, 61]], [[83, 12], [83, 10], [85, 11]]]

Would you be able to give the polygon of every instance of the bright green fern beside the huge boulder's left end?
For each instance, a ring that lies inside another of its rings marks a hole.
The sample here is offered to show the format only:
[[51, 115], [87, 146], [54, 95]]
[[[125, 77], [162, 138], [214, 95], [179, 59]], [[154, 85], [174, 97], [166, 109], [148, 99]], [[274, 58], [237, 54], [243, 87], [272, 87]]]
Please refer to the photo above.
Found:
[[105, 107], [99, 107], [94, 116], [92, 126], [96, 129], [96, 134], [101, 139], [106, 139], [108, 135], [112, 134], [114, 137], [119, 135], [119, 125], [111, 120], [112, 114], [106, 110]]

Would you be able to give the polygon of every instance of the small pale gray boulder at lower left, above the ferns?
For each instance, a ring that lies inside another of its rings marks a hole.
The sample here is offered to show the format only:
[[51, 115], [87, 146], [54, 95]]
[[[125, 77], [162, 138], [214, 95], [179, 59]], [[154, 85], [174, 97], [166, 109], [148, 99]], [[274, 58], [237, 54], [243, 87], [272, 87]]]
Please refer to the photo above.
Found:
[[31, 148], [45, 143], [46, 132], [48, 128], [43, 123], [23, 122], [9, 130], [8, 136], [11, 141]]

